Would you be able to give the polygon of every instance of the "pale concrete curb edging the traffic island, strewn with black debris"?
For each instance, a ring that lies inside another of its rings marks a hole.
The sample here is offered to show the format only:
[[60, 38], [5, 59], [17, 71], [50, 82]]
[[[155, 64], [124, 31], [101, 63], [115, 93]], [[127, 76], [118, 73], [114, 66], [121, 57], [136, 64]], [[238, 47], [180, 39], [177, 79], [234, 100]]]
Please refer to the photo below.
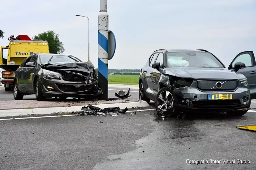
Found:
[[[83, 105], [83, 106], [86, 106], [86, 105]], [[81, 108], [83, 106], [0, 110], [0, 117], [46, 115], [46, 114], [53, 114], [53, 113], [59, 113], [59, 112], [78, 112], [78, 111], [81, 111]], [[149, 106], [149, 104], [146, 101], [139, 101], [139, 102], [127, 102], [127, 103], [96, 104], [93, 106], [97, 106], [99, 108], [120, 107], [120, 109], [124, 109], [125, 107], [128, 107], [128, 108], [147, 107]]]

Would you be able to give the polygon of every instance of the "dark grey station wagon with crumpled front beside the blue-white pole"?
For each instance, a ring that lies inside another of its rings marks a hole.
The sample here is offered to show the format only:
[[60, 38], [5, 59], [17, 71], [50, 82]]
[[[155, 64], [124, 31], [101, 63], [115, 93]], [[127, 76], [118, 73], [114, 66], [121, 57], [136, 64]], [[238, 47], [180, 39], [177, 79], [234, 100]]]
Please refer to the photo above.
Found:
[[94, 65], [72, 55], [35, 53], [16, 70], [13, 83], [15, 100], [31, 94], [37, 100], [97, 98], [102, 94]]

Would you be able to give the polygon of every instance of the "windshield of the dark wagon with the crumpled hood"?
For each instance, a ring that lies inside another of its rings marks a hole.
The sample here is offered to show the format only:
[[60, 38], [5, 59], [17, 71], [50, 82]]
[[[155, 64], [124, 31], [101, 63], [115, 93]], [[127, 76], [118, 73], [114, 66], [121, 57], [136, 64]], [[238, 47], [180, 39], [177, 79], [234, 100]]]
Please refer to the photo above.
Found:
[[79, 59], [68, 55], [40, 55], [42, 64], [58, 62], [81, 62]]

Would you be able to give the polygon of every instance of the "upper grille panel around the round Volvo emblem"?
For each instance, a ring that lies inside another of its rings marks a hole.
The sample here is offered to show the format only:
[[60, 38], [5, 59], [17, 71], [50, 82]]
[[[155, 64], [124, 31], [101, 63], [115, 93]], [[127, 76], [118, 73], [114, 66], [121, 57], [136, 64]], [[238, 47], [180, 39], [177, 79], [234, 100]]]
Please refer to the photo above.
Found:
[[[217, 82], [222, 83], [221, 88], [216, 88], [215, 84]], [[198, 80], [197, 88], [202, 91], [228, 91], [237, 88], [237, 80]]]

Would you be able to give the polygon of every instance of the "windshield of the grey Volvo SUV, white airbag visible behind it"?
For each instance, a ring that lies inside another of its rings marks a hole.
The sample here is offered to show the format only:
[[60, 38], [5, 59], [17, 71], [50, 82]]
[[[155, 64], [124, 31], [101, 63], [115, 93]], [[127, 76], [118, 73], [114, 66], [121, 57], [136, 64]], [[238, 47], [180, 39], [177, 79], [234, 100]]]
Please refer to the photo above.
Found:
[[221, 67], [224, 66], [207, 52], [168, 52], [167, 67]]

